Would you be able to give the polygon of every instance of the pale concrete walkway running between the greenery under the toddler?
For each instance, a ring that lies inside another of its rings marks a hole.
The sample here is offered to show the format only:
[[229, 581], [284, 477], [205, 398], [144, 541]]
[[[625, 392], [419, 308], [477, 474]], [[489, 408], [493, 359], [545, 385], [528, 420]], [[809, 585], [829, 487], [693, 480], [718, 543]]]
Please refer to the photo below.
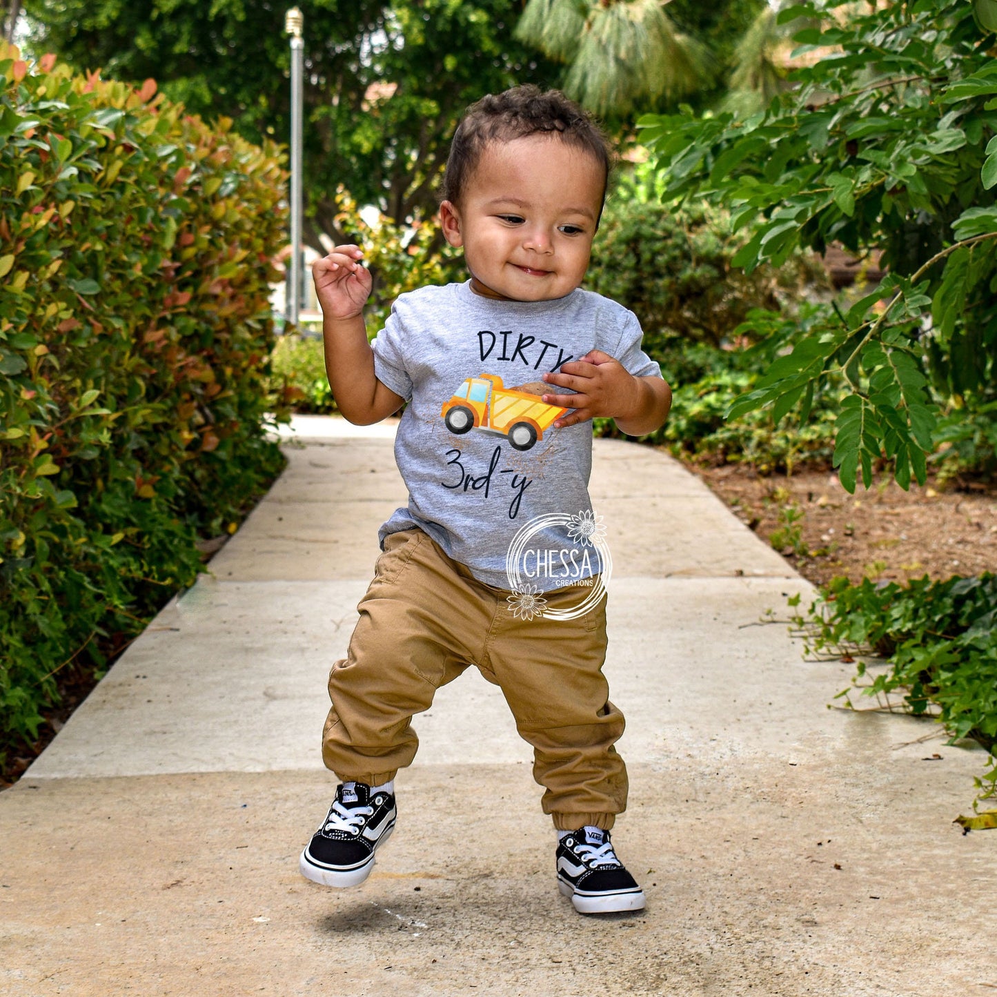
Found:
[[[992, 993], [993, 848], [963, 836], [980, 750], [829, 710], [851, 666], [781, 625], [811, 594], [694, 477], [596, 441], [612, 697], [645, 911], [557, 891], [530, 752], [474, 669], [416, 720], [399, 824], [361, 887], [302, 879], [334, 790], [319, 757], [405, 492], [393, 427], [296, 423], [270, 494], [0, 794], [0, 993]], [[940, 760], [929, 761], [933, 753]]]

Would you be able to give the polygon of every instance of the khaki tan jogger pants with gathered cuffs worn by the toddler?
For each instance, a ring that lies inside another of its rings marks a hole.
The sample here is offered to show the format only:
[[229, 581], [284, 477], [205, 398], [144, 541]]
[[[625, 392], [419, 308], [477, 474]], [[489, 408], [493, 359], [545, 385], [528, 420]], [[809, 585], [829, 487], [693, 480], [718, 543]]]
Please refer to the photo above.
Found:
[[[578, 586], [544, 592], [547, 608], [579, 601]], [[389, 534], [360, 600], [347, 657], [329, 675], [332, 709], [322, 758], [342, 782], [380, 786], [412, 763], [413, 714], [476, 665], [498, 685], [533, 746], [533, 778], [554, 827], [610, 829], [626, 807], [614, 743], [623, 715], [602, 674], [605, 599], [572, 620], [516, 617], [508, 591], [476, 579], [421, 529]]]

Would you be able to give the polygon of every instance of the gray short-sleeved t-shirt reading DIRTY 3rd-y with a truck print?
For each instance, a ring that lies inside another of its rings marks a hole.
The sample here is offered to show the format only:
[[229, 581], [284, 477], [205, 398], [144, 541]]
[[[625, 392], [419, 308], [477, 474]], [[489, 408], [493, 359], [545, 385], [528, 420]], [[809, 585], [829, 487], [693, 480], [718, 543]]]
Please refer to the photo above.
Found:
[[419, 526], [476, 578], [507, 589], [509, 545], [534, 521], [524, 576], [536, 589], [601, 570], [594, 547], [577, 543], [592, 514], [592, 424], [552, 427], [565, 410], [539, 396], [570, 390], [541, 375], [596, 349], [635, 377], [661, 377], [633, 312], [581, 289], [497, 301], [467, 281], [400, 295], [371, 345], [377, 377], [409, 402], [395, 441], [409, 503], [381, 526], [382, 548], [389, 533]]

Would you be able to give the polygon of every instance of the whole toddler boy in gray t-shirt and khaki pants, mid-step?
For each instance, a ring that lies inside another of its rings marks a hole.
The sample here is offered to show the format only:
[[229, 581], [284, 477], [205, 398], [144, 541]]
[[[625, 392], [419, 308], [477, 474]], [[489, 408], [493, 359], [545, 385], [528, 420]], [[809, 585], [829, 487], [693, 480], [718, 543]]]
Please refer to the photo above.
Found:
[[611, 417], [641, 436], [671, 396], [633, 313], [580, 288], [610, 166], [598, 127], [558, 92], [489, 95], [457, 130], [440, 208], [470, 280], [401, 295], [368, 344], [361, 249], [337, 246], [314, 266], [342, 414], [368, 425], [409, 403], [395, 445], [409, 502], [380, 529], [348, 655], [329, 676], [322, 754], [340, 785], [301, 854], [315, 882], [370, 874], [395, 826], [395, 775], [418, 746], [412, 716], [474, 664], [533, 746], [561, 892], [582, 913], [644, 906], [609, 837], [627, 779], [602, 674], [605, 548], [586, 424]]

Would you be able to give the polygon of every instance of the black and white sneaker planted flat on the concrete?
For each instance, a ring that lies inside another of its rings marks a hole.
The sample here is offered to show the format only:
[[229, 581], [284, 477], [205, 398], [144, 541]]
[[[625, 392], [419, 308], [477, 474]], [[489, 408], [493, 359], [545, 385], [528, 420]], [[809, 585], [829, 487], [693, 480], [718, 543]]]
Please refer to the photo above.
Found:
[[557, 886], [580, 914], [643, 910], [644, 891], [613, 852], [609, 831], [581, 828], [557, 844]]

